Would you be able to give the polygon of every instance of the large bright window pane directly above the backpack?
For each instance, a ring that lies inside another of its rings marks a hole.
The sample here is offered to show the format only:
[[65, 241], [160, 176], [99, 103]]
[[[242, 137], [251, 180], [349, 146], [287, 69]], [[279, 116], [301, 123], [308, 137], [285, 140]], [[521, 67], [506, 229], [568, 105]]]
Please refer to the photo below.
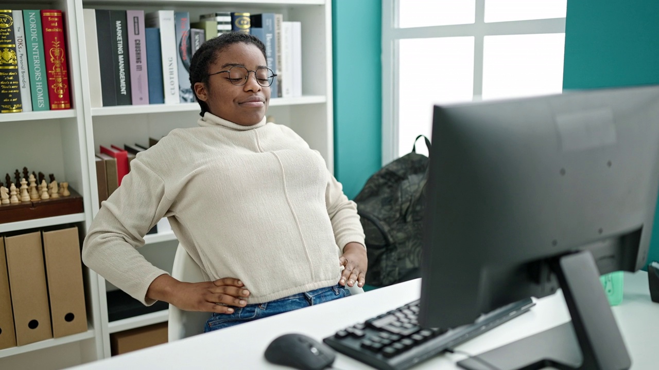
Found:
[[[435, 103], [471, 101], [474, 38], [400, 40], [398, 78], [399, 155], [405, 155], [417, 135], [430, 138]], [[418, 152], [427, 154], [425, 146]]]

